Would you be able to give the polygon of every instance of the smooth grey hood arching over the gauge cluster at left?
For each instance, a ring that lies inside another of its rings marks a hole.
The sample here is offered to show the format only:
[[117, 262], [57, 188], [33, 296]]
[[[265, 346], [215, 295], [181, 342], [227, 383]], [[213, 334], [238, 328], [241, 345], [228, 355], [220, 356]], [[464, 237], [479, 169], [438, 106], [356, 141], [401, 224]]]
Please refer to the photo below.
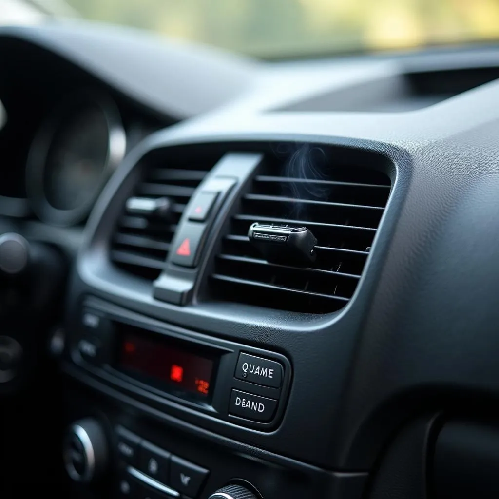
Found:
[[12, 38], [58, 54], [175, 121], [241, 95], [259, 68], [249, 58], [204, 45], [86, 21], [0, 28], [0, 52], [8, 52]]

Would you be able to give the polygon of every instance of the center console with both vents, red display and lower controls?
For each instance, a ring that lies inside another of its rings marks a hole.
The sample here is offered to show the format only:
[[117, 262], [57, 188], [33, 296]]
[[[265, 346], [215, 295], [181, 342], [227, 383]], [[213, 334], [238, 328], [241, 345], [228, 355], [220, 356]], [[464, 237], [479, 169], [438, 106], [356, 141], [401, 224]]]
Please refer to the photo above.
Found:
[[331, 450], [394, 170], [330, 142], [166, 131], [113, 176], [61, 355], [76, 495], [360, 497], [367, 466]]

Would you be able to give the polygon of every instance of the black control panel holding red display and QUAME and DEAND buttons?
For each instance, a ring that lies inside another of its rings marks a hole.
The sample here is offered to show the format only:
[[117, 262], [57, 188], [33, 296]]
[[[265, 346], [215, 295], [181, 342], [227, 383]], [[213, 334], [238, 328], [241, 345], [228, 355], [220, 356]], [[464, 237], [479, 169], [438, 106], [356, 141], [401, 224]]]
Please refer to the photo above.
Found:
[[105, 308], [82, 306], [73, 362], [167, 413], [174, 405], [261, 431], [278, 425], [291, 382], [285, 356]]

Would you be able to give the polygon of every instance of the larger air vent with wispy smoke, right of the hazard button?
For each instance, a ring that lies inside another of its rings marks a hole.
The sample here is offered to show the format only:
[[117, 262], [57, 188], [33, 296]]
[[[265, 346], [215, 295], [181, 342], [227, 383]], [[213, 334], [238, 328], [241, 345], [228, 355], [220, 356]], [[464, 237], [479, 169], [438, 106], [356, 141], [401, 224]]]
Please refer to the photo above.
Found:
[[[335, 164], [322, 148], [267, 155], [240, 201], [211, 276], [225, 301], [327, 313], [352, 297], [390, 195], [389, 177]], [[310, 267], [269, 263], [248, 239], [252, 222], [305, 226], [318, 240]]]

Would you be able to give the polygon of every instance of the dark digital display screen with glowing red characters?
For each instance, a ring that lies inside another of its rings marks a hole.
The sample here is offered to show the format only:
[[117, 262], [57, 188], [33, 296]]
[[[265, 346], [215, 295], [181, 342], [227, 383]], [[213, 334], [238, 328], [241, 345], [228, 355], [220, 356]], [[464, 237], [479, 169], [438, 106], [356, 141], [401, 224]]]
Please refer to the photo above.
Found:
[[166, 341], [124, 332], [118, 352], [118, 369], [174, 395], [189, 394], [208, 400], [214, 361]]

